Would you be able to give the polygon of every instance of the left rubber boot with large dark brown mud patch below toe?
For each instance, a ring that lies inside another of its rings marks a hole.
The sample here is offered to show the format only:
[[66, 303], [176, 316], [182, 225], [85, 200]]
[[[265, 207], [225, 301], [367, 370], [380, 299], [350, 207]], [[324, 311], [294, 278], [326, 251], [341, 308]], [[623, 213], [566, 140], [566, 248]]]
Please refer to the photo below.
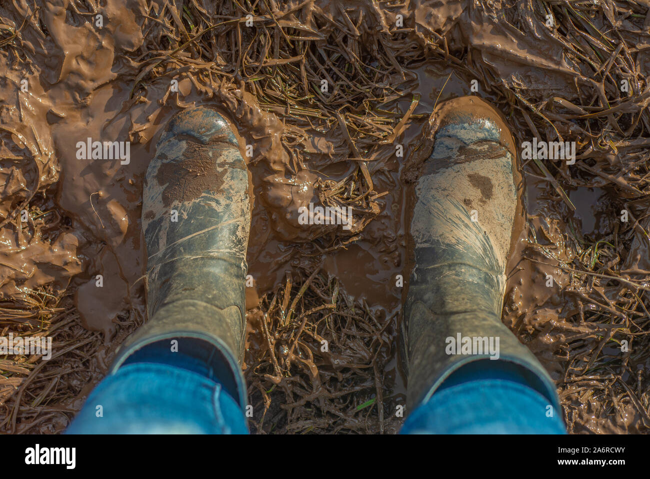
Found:
[[232, 376], [220, 380], [236, 385], [233, 398], [245, 407], [246, 163], [224, 118], [207, 107], [174, 116], [156, 148], [142, 195], [149, 320], [121, 346], [111, 372], [143, 346], [170, 351], [172, 340], [193, 338], [178, 347], [225, 361]]

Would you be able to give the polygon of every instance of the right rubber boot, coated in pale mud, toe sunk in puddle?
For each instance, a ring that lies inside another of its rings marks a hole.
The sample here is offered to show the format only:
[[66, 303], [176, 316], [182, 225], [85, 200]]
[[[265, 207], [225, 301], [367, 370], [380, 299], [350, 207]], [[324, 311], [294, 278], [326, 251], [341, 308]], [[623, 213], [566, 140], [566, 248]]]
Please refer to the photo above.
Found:
[[[415, 185], [410, 225], [415, 267], [405, 308], [408, 410], [428, 400], [464, 364], [498, 355], [519, 364], [560, 411], [551, 377], [500, 319], [523, 193], [504, 118], [478, 97], [456, 98], [435, 109], [422, 139], [424, 151], [433, 147], [433, 152]], [[477, 340], [468, 354], [456, 344], [459, 336], [461, 343], [466, 337], [488, 342]], [[497, 338], [496, 354], [490, 353], [484, 346], [490, 340], [496, 346]], [[497, 361], [486, 366], [490, 363]]]

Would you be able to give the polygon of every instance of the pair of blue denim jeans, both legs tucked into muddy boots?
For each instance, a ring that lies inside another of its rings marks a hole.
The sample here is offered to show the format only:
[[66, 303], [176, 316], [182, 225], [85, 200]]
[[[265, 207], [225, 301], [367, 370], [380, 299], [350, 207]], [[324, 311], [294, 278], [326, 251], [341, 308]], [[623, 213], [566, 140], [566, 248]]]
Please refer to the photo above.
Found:
[[[66, 433], [246, 434], [237, 394], [225, 384], [196, 357], [149, 345], [99, 383]], [[401, 433], [565, 433], [551, 402], [510, 363], [477, 361], [448, 377]]]

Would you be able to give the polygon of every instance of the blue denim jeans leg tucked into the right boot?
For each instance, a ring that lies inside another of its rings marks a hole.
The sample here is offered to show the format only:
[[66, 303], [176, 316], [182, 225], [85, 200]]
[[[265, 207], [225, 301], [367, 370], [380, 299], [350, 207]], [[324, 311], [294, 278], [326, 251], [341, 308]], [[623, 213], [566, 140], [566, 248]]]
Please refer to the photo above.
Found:
[[518, 369], [489, 360], [462, 366], [406, 418], [400, 433], [565, 434], [560, 411]]

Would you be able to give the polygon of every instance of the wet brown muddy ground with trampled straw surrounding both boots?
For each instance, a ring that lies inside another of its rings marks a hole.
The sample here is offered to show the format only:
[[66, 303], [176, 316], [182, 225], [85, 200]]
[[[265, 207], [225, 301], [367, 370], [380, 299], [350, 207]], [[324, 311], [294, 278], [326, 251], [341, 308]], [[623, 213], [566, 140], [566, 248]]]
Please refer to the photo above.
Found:
[[[647, 432], [649, 8], [3, 2], [0, 336], [49, 336], [53, 357], [0, 355], [0, 431], [64, 430], [144, 322], [144, 172], [161, 126], [209, 104], [239, 132], [255, 191], [251, 430], [395, 433], [406, 160], [434, 105], [475, 94], [520, 144], [577, 142], [573, 165], [522, 162], [504, 322], [556, 381], [569, 432]], [[130, 141], [129, 163], [78, 159], [87, 138]], [[352, 206], [354, 227], [299, 225], [311, 200]]]

